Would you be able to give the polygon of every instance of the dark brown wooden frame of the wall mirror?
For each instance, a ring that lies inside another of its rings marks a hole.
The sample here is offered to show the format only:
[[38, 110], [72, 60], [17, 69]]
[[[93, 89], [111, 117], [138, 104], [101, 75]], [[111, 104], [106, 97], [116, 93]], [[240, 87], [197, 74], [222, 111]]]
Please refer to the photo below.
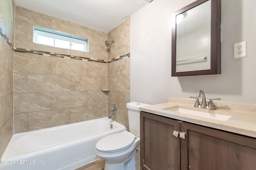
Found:
[[196, 70], [186, 72], [176, 72], [176, 16], [191, 8], [194, 8], [208, 0], [197, 0], [188, 6], [172, 13], [172, 77], [173, 76], [199, 76], [210, 74], [221, 74], [221, 42], [220, 42], [220, 22], [221, 22], [221, 2], [211, 0], [211, 47], [210, 47], [210, 70]]

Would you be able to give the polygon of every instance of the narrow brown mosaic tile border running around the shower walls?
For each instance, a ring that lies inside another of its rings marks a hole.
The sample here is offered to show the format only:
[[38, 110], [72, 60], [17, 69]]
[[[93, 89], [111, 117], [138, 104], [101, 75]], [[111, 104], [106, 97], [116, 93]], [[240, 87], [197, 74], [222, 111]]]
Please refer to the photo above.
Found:
[[130, 53], [125, 54], [123, 56], [119, 56], [116, 58], [113, 58], [112, 60], [99, 60], [99, 59], [93, 59], [93, 58], [87, 58], [87, 57], [81, 57], [81, 56], [72, 56], [67, 54], [59, 54], [54, 52], [45, 52], [45, 51], [38, 51], [38, 50], [29, 50], [25, 48], [16, 48], [14, 45], [10, 42], [9, 38], [6, 36], [2, 28], [0, 27], [0, 35], [6, 40], [7, 44], [14, 50], [14, 52], [23, 52], [23, 53], [29, 53], [29, 54], [38, 54], [42, 56], [52, 56], [52, 57], [60, 57], [60, 58], [70, 58], [75, 60], [84, 60], [84, 61], [91, 61], [91, 62], [100, 62], [100, 63], [110, 63], [114, 61], [118, 61], [127, 57], [130, 57]]

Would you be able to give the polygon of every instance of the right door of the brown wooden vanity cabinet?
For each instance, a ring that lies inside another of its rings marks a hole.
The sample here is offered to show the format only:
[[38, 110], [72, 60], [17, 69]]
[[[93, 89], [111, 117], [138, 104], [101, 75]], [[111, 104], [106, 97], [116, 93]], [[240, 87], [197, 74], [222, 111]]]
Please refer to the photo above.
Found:
[[180, 123], [181, 170], [256, 170], [256, 139]]

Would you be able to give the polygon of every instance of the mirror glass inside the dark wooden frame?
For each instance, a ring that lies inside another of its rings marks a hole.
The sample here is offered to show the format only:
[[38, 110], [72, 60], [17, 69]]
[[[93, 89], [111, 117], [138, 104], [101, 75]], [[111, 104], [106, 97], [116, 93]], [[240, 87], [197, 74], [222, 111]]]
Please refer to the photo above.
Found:
[[209, 70], [211, 2], [176, 15], [176, 72]]

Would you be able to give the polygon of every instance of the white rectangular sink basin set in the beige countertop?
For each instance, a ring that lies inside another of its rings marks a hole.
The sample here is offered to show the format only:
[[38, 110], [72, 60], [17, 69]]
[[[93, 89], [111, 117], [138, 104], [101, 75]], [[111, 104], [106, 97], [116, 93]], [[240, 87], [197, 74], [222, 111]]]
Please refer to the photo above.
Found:
[[[198, 110], [200, 109], [202, 111], [197, 111], [196, 109], [198, 109]], [[181, 107], [181, 106], [173, 106], [173, 107], [169, 107], [169, 108], [164, 108], [164, 110], [170, 110], [170, 111], [176, 112], [176, 113], [189, 114], [192, 116], [200, 116], [200, 117], [204, 117], [204, 118], [210, 118], [210, 119], [221, 120], [221, 121], [226, 121], [232, 117], [232, 116], [227, 116], [227, 115], [222, 115], [222, 114], [204, 112], [205, 109], [201, 109], [201, 108], [188, 109], [188, 108]], [[212, 110], [209, 110], [209, 111], [214, 112]]]

